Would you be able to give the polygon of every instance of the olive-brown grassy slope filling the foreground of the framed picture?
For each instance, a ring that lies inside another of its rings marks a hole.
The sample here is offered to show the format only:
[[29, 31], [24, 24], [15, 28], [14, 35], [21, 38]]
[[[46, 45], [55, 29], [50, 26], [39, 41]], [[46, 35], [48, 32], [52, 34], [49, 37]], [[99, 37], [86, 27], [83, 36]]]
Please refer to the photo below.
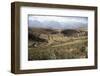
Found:
[[87, 57], [87, 38], [69, 39], [57, 45], [29, 48], [29, 60], [72, 59]]

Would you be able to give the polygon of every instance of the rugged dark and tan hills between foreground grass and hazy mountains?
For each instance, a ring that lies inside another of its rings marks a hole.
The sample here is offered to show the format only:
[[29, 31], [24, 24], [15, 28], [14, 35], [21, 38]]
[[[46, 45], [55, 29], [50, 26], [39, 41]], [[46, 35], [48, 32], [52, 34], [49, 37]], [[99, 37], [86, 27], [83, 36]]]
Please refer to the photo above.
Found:
[[[52, 44], [53, 42], [66, 41], [68, 37], [80, 37], [87, 36], [87, 31], [82, 30], [49, 30], [49, 29], [35, 29], [28, 31], [28, 39], [31, 41], [32, 46], [38, 46], [41, 44]], [[29, 43], [30, 44], [30, 43]]]

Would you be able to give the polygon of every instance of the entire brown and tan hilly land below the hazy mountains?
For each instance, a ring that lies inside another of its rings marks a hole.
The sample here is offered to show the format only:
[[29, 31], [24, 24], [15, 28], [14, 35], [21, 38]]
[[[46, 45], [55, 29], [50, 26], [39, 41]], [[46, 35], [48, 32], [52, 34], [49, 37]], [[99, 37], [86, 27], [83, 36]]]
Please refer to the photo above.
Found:
[[85, 30], [29, 29], [28, 59], [87, 58], [88, 37]]

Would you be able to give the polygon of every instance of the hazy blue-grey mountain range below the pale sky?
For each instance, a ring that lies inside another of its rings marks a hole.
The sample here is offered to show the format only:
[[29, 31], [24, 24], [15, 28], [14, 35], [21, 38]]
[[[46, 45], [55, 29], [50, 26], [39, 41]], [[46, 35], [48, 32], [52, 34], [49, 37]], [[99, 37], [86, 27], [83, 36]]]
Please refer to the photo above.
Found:
[[46, 28], [46, 29], [87, 29], [88, 23], [85, 22], [58, 22], [53, 20], [29, 20], [30, 28]]

